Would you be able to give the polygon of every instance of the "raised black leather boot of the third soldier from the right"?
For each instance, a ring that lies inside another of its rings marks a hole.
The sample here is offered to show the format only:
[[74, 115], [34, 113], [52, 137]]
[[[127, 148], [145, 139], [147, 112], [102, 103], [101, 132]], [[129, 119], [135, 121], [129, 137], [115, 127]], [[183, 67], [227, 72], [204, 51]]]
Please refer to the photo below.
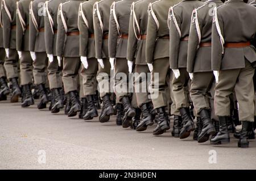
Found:
[[183, 127], [180, 132], [180, 139], [189, 137], [190, 133], [195, 130], [193, 119], [190, 115], [189, 108], [180, 108]]

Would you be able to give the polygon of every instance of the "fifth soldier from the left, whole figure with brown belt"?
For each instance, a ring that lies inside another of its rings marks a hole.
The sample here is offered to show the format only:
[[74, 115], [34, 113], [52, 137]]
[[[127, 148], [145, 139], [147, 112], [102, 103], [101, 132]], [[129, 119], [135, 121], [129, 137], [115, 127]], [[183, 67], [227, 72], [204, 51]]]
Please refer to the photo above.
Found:
[[61, 3], [57, 17], [57, 59], [63, 57], [63, 83], [65, 94], [69, 95], [71, 108], [68, 117], [77, 115], [81, 110], [78, 99], [78, 76], [80, 69], [78, 12], [82, 1], [72, 0]]

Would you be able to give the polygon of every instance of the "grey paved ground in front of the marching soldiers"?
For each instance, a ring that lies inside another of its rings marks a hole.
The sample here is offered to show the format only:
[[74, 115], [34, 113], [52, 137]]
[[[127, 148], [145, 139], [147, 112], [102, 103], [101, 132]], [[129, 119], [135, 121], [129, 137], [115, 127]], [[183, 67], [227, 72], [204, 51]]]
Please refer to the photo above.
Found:
[[[154, 127], [138, 133], [115, 126], [114, 116], [101, 124], [0, 102], [0, 169], [256, 169], [255, 140], [249, 149], [237, 148], [233, 136], [228, 145], [212, 146], [170, 131], [152, 136]], [[210, 150], [216, 164], [208, 162]]]

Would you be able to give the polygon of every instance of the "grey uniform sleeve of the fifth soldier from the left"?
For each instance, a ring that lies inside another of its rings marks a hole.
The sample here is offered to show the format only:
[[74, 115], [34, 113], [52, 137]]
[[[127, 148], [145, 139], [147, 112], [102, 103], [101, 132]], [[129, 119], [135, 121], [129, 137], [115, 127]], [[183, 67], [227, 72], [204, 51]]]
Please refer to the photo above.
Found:
[[[65, 22], [67, 22], [67, 16], [63, 10], [61, 10], [63, 13], [63, 17]], [[57, 42], [56, 42], [56, 53], [57, 56], [62, 57], [64, 52], [64, 44], [65, 44], [65, 28], [64, 24], [62, 22], [60, 12], [58, 13], [58, 30], [57, 30]]]

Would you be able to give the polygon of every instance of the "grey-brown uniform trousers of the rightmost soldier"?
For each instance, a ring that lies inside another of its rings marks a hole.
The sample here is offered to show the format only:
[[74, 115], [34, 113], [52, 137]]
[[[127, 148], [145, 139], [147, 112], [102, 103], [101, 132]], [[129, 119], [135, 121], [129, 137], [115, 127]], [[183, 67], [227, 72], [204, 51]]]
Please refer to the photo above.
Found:
[[240, 121], [254, 121], [254, 68], [245, 60], [245, 68], [220, 70], [214, 106], [217, 116], [230, 116], [229, 96], [236, 92]]

